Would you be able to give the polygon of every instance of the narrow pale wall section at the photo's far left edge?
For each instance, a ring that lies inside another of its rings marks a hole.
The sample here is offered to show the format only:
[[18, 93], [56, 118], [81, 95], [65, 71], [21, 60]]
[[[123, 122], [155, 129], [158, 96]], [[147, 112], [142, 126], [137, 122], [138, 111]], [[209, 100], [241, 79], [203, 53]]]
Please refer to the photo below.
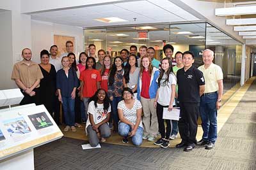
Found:
[[10, 89], [12, 84], [12, 11], [0, 13], [0, 90]]

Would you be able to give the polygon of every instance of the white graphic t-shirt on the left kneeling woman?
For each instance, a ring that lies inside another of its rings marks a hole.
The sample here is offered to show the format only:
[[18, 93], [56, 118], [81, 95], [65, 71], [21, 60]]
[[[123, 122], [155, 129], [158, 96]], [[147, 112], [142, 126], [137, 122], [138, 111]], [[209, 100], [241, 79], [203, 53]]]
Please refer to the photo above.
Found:
[[[109, 104], [108, 110], [106, 110], [106, 111], [104, 110], [103, 103], [102, 104], [97, 103], [97, 108], [95, 108], [94, 101], [91, 101], [88, 104], [88, 113], [87, 114], [93, 115], [93, 122], [95, 124], [99, 124], [100, 122], [105, 120], [107, 118], [108, 113], [110, 113], [110, 112], [111, 112], [110, 104]], [[91, 125], [90, 118], [87, 119], [86, 129], [87, 129], [88, 125]]]

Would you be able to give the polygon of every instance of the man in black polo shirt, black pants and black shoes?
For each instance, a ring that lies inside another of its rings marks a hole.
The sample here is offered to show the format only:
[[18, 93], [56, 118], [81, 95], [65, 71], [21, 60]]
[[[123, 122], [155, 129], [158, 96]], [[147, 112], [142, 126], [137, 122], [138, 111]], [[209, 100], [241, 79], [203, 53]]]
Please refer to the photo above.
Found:
[[201, 71], [194, 63], [194, 55], [184, 52], [182, 56], [184, 67], [177, 71], [178, 99], [180, 101], [179, 132], [182, 139], [177, 148], [184, 148], [188, 152], [196, 144], [197, 119], [199, 115], [200, 96], [204, 94], [205, 81]]

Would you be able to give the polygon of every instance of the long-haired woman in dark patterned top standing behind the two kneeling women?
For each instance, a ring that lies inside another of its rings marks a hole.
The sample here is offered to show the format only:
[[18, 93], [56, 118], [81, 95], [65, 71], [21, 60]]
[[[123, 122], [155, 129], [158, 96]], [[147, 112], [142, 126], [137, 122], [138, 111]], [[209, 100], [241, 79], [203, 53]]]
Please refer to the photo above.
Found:
[[108, 77], [108, 96], [111, 100], [112, 116], [114, 120], [114, 130], [117, 132], [117, 123], [119, 121], [117, 115], [117, 104], [122, 100], [123, 86], [123, 59], [121, 57], [115, 57], [113, 66], [111, 67]]

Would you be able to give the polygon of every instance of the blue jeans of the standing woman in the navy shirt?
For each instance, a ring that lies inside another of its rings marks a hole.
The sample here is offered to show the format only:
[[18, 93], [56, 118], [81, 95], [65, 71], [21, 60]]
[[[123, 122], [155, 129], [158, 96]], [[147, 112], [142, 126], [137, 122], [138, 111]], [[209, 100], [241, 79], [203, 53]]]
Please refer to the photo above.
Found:
[[72, 126], [75, 124], [75, 99], [62, 96], [63, 112], [66, 125]]

